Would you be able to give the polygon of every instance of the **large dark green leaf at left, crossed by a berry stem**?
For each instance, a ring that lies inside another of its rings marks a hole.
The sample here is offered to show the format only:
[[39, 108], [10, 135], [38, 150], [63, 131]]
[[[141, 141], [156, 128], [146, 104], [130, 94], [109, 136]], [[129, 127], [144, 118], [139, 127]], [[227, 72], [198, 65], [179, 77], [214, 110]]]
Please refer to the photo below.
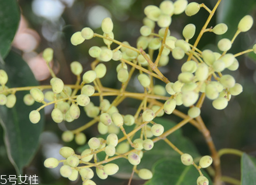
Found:
[[[19, 55], [10, 53], [6, 58], [6, 65], [0, 68], [8, 73], [9, 88], [38, 86], [33, 73], [26, 62]], [[11, 109], [0, 106], [0, 123], [4, 128], [4, 141], [8, 152], [8, 158], [12, 162], [18, 175], [22, 174], [23, 167], [28, 165], [39, 146], [39, 136], [44, 126], [44, 115], [41, 120], [33, 124], [29, 120], [30, 111], [40, 105], [27, 106], [23, 103], [23, 97], [29, 91], [18, 91], [15, 95], [17, 102]]]

